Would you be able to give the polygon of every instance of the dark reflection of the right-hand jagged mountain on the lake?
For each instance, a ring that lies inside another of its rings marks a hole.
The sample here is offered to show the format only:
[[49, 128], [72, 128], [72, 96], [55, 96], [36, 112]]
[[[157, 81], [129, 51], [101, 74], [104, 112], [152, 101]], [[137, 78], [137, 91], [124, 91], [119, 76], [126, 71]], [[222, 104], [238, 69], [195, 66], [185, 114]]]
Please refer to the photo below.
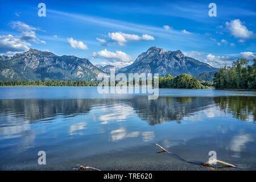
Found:
[[181, 121], [183, 117], [204, 110], [213, 103], [212, 97], [159, 97], [158, 100], [137, 97], [132, 105], [139, 117], [149, 125], [155, 125], [164, 121]]

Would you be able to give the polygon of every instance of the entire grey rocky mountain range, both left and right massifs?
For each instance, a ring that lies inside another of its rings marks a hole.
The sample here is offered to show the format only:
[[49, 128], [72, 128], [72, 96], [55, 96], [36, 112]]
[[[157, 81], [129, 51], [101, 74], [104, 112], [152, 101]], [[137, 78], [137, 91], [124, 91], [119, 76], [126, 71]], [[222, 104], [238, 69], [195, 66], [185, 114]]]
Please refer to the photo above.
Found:
[[164, 51], [151, 47], [141, 53], [133, 64], [118, 69], [113, 65], [93, 65], [88, 59], [76, 56], [57, 56], [51, 52], [30, 49], [14, 56], [0, 56], [0, 81], [7, 80], [97, 80], [97, 76], [109, 77], [111, 69], [116, 73], [159, 73], [172, 76], [187, 73], [199, 75], [217, 71], [209, 64], [183, 55], [178, 51]]

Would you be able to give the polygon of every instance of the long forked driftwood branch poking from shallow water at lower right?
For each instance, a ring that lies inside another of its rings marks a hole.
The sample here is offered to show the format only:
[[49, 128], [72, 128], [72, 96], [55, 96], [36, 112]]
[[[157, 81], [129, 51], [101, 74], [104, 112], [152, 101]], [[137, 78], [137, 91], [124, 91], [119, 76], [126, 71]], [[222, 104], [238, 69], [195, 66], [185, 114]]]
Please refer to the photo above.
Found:
[[[159, 148], [161, 148], [163, 151], [160, 151], [160, 152], [156, 152], [156, 154], [162, 154], [164, 152], [167, 152], [169, 154], [174, 154], [173, 152], [169, 152], [168, 150], [166, 150], [165, 148], [163, 148], [162, 146], [160, 146], [159, 144], [156, 143], [156, 146], [158, 146]], [[175, 156], [177, 156], [179, 159], [185, 161], [185, 162], [188, 162], [188, 163], [192, 163], [192, 164], [199, 164], [199, 163], [194, 163], [194, 162], [189, 162], [183, 158], [181, 158], [179, 155], [176, 155], [174, 154]], [[224, 167], [213, 167], [211, 164], [214, 164], [214, 163], [220, 163], [220, 164], [224, 164], [226, 166]], [[226, 162], [223, 162], [221, 160], [217, 160], [217, 159], [212, 159], [212, 160], [209, 160], [208, 162], [205, 162], [205, 163], [201, 163], [200, 165], [203, 165], [207, 168], [210, 168], [210, 169], [224, 169], [224, 168], [237, 168], [236, 166], [234, 166], [233, 164], [229, 164], [229, 163], [226, 163]]]

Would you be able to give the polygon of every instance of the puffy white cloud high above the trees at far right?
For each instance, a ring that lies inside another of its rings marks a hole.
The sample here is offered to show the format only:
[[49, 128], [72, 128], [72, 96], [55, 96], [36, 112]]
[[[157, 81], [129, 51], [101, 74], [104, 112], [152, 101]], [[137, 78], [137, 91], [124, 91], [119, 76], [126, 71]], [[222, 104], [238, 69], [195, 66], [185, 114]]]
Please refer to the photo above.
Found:
[[240, 21], [240, 19], [226, 22], [226, 27], [229, 29], [231, 34], [236, 38], [250, 39], [254, 38], [254, 33], [249, 31], [246, 26]]

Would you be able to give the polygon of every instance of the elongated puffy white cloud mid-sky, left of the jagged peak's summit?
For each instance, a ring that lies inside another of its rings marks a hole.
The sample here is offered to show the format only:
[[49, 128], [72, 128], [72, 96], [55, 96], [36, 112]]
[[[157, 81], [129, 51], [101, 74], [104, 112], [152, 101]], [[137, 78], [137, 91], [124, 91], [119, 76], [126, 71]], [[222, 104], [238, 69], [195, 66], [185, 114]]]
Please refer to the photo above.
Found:
[[125, 34], [122, 32], [109, 32], [109, 37], [113, 41], [117, 42], [119, 46], [125, 46], [125, 43], [130, 41], [141, 41], [141, 40], [155, 40], [153, 36], [143, 34], [142, 36], [138, 36], [135, 34]]

